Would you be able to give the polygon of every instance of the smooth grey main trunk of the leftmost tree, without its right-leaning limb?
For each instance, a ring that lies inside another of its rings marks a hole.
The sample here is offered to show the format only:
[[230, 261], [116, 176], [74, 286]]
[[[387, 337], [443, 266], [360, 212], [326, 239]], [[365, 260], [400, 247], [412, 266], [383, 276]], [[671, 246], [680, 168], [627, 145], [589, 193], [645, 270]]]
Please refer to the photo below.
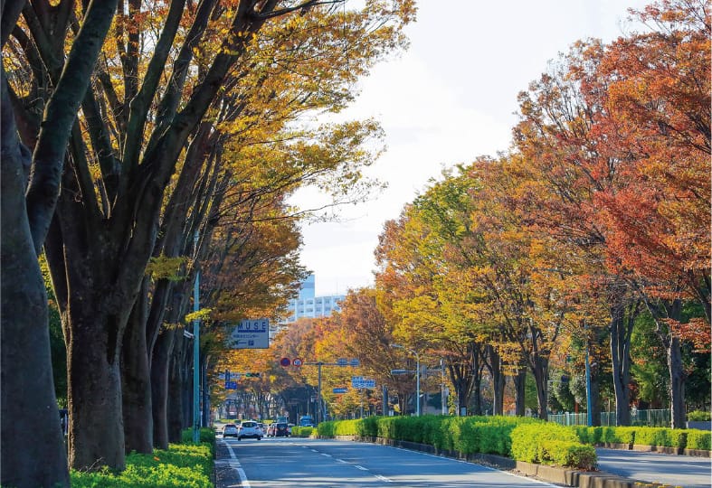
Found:
[[21, 149], [14, 133], [5, 70], [2, 86], [0, 484], [69, 486], [52, 380], [47, 296], [24, 211], [25, 169], [29, 167], [24, 161], [29, 163], [29, 153], [23, 155], [26, 149]]

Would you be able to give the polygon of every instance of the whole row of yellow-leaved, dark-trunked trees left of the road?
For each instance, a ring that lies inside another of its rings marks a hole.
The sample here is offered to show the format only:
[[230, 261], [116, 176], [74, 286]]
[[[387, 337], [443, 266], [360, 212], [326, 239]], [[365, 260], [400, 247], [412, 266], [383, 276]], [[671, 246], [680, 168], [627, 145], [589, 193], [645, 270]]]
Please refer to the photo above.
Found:
[[[360, 170], [377, 124], [304, 122], [353, 99], [357, 78], [403, 46], [414, 7], [2, 7], [0, 483], [67, 485], [68, 466], [121, 469], [190, 418], [171, 395], [190, 381], [180, 325], [200, 264], [216, 318], [274, 310], [303, 272], [290, 193], [369, 191]], [[65, 343], [68, 449], [52, 414], [41, 255]]]

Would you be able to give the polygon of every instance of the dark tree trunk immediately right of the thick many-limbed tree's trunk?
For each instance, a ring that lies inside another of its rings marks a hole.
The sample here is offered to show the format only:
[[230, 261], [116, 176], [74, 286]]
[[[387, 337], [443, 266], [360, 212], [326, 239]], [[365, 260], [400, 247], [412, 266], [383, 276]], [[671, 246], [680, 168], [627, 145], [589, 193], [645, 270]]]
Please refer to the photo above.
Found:
[[153, 452], [153, 411], [146, 343], [148, 277], [128, 318], [121, 352], [121, 385], [126, 453]]

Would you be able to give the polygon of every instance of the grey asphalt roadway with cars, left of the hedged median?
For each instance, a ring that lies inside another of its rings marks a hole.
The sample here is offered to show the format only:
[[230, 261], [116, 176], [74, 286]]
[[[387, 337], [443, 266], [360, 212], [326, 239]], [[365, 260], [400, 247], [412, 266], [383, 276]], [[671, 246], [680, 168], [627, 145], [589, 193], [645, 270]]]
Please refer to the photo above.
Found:
[[[481, 465], [368, 443], [291, 437], [239, 442], [231, 437], [223, 442], [216, 462], [223, 473], [217, 488], [555, 486]], [[233, 469], [224, 469], [228, 466]]]

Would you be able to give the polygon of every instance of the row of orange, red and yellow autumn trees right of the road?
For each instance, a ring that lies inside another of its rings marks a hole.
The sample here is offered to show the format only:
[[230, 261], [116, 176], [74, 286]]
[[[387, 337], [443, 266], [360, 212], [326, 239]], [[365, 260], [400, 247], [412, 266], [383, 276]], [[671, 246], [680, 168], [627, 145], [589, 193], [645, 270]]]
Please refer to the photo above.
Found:
[[[474, 413], [484, 385], [503, 413], [511, 382], [524, 415], [533, 380], [540, 418], [552, 399], [573, 403], [563, 387], [583, 386], [588, 357], [594, 414], [602, 389], [620, 425], [631, 395], [667, 397], [672, 427], [685, 427], [686, 381], [698, 407], [710, 389], [712, 32], [704, 2], [636, 14], [650, 29], [577, 42], [552, 63], [519, 96], [511, 150], [433, 181], [385, 225], [375, 287], [288, 331], [301, 343], [280, 353], [358, 357], [359, 374], [403, 399], [400, 343], [443, 358], [455, 404]], [[351, 374], [329, 371], [328, 386]], [[324, 398], [335, 412], [356, 400]]]

